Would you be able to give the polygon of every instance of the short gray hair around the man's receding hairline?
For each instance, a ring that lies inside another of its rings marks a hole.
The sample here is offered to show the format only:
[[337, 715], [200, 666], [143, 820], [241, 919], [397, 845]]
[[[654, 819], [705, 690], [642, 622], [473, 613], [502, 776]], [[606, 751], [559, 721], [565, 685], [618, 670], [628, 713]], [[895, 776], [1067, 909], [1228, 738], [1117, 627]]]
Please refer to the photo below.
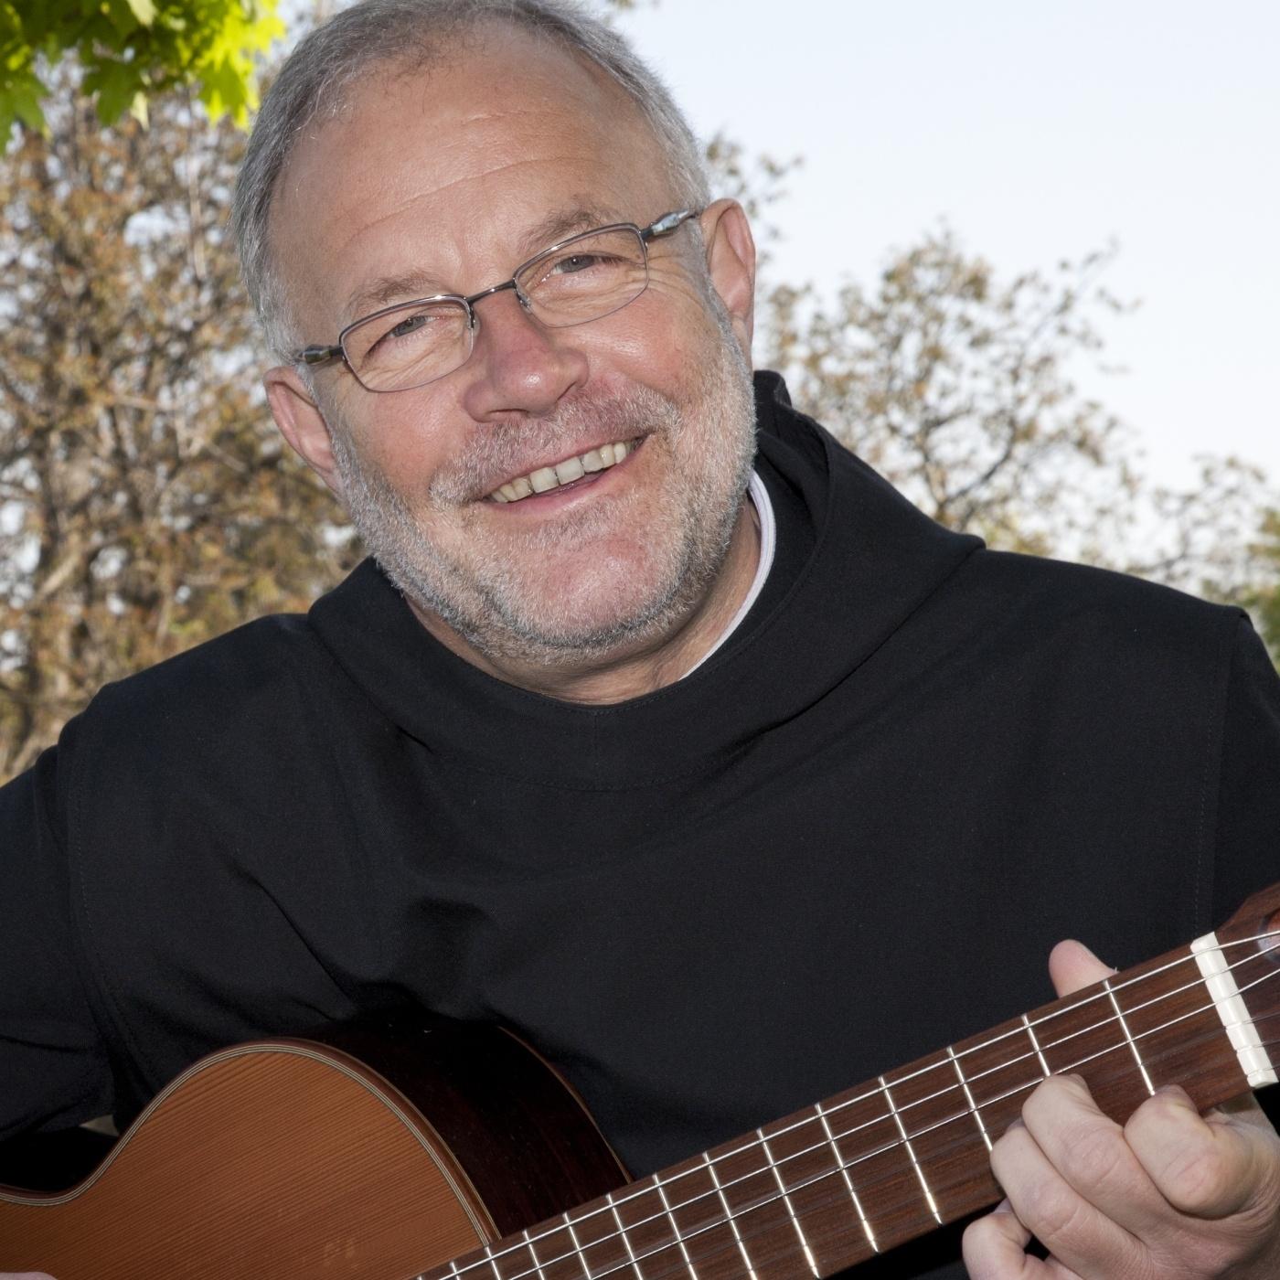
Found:
[[362, 0], [306, 36], [262, 101], [236, 183], [232, 230], [241, 269], [276, 357], [296, 356], [294, 317], [271, 253], [271, 202], [307, 125], [338, 114], [375, 67], [413, 67], [440, 44], [485, 22], [504, 22], [580, 54], [632, 99], [667, 159], [678, 201], [710, 200], [703, 152], [666, 86], [626, 41], [575, 0]]

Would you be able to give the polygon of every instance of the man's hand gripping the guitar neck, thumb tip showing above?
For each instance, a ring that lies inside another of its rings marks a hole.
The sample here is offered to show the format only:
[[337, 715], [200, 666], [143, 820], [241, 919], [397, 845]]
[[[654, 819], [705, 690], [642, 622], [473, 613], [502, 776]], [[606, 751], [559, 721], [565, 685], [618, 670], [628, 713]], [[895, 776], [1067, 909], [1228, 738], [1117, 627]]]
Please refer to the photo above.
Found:
[[[1079, 942], [1050, 956], [1060, 996], [1114, 972]], [[965, 1231], [973, 1280], [1280, 1276], [1280, 1137], [1252, 1094], [1201, 1116], [1157, 1089], [1121, 1128], [1079, 1076], [1052, 1076], [991, 1164], [1009, 1198]]]

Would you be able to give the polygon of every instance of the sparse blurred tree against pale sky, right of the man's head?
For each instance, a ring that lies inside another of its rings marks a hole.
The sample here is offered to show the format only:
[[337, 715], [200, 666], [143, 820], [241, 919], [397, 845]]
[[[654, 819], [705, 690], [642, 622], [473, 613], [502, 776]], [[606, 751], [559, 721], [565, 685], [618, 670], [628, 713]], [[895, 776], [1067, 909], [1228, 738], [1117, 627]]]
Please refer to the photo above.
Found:
[[[1119, 424], [1069, 376], [1100, 346], [1094, 316], [1117, 308], [1097, 284], [1106, 261], [1002, 283], [943, 230], [829, 308], [773, 288], [772, 360], [808, 412], [940, 522], [1009, 549], [1088, 553], [1097, 495], [1115, 518], [1135, 486]], [[1082, 477], [1084, 509], [1069, 499]]]

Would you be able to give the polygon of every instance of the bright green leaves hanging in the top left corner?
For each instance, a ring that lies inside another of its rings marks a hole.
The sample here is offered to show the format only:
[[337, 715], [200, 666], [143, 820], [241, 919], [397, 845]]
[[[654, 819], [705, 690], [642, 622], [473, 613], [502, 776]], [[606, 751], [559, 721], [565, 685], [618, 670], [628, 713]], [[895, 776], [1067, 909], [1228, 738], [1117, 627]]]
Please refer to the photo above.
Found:
[[[0, 3], [0, 138], [45, 128], [44, 65], [77, 54], [104, 124], [178, 86], [210, 116], [243, 125], [257, 105], [255, 59], [284, 24], [276, 0], [8, 0]], [[60, 82], [65, 87], [65, 81]]]

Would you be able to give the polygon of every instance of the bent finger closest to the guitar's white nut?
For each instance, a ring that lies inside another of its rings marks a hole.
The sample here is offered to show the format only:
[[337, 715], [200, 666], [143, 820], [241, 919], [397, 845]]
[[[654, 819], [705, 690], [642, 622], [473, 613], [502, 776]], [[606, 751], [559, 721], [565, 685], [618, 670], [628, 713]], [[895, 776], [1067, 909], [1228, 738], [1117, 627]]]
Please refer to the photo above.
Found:
[[1158, 1089], [1129, 1117], [1125, 1140], [1179, 1212], [1224, 1219], [1280, 1199], [1280, 1142], [1252, 1111], [1201, 1116], [1176, 1085]]

